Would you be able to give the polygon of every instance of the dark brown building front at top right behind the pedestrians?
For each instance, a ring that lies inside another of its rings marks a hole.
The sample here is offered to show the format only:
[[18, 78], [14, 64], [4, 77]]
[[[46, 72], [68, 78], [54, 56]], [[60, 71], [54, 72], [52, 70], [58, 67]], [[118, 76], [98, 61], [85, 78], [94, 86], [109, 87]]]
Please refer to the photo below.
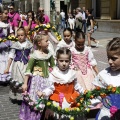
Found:
[[120, 0], [69, 0], [68, 10], [85, 6], [86, 9], [93, 8], [95, 18], [112, 20], [120, 19]]

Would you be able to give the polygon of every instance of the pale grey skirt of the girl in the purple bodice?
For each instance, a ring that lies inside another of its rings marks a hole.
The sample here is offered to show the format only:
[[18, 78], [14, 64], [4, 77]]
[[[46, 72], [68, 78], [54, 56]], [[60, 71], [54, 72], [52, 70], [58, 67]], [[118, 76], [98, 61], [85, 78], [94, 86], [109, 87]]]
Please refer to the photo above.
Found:
[[[24, 65], [23, 62], [20, 61], [13, 62], [12, 70], [11, 70], [12, 79], [18, 83], [23, 83], [25, 79], [24, 73], [26, 67], [27, 64]], [[16, 87], [12, 83], [10, 83], [9, 97], [11, 99], [23, 100], [21, 87]]]

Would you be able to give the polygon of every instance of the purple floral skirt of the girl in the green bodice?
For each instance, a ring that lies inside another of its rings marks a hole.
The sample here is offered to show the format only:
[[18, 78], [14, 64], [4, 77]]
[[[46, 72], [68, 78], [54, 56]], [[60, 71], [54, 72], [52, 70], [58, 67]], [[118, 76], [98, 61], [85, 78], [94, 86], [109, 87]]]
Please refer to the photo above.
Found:
[[[43, 78], [39, 75], [33, 76], [31, 79], [29, 79], [28, 86], [30, 98], [36, 102], [39, 99], [37, 91], [43, 91], [49, 86], [48, 78]], [[40, 120], [41, 113], [31, 109], [28, 103], [23, 101], [19, 118], [20, 120]]]

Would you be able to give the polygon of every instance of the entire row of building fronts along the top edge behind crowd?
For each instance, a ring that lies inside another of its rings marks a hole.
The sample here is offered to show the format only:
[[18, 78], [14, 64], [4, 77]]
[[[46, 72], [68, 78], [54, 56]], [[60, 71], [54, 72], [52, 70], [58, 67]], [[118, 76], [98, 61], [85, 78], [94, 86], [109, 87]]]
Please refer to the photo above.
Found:
[[[3, 3], [10, 3], [11, 0], [3, 0]], [[85, 6], [86, 9], [93, 8], [93, 15], [97, 19], [112, 20], [120, 19], [120, 0], [14, 0], [16, 10], [27, 12], [37, 11], [43, 7], [45, 13], [50, 16], [50, 1], [55, 1], [56, 11], [63, 9], [66, 13], [77, 7]]]

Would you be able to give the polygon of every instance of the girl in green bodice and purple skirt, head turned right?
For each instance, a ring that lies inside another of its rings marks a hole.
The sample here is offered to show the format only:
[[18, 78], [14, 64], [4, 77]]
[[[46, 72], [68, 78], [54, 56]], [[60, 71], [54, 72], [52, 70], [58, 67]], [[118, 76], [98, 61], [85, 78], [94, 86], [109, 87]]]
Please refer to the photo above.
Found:
[[[37, 50], [30, 56], [28, 66], [25, 72], [25, 80], [22, 86], [23, 91], [28, 91], [29, 97], [37, 102], [39, 99], [37, 91], [42, 91], [49, 86], [49, 67], [54, 66], [54, 59], [48, 50], [48, 34], [41, 31], [35, 36], [35, 45]], [[40, 120], [41, 113], [32, 109], [24, 99], [20, 109], [20, 120]]]

